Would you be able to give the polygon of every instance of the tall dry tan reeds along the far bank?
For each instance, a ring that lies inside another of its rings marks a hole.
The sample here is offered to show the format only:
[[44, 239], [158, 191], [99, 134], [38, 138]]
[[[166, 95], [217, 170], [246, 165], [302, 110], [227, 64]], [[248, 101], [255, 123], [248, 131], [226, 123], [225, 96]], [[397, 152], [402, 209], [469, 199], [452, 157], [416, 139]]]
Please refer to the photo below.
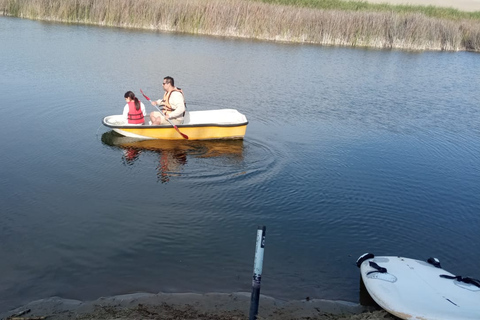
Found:
[[480, 52], [477, 13], [445, 9], [450, 13], [433, 14], [426, 7], [431, 10], [427, 14], [406, 7], [338, 0], [0, 0], [4, 14], [29, 19], [324, 45]]

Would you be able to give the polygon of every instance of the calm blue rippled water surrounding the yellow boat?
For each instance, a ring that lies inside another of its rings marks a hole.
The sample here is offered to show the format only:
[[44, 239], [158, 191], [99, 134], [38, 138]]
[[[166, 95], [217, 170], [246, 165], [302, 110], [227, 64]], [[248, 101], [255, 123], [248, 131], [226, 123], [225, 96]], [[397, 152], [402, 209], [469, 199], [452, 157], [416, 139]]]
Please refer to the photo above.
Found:
[[[0, 39], [0, 311], [250, 291], [258, 225], [262, 293], [277, 298], [358, 301], [364, 252], [480, 276], [478, 54], [5, 17]], [[191, 110], [244, 113], [245, 140], [138, 142], [101, 125], [127, 90], [160, 97], [166, 75]]]

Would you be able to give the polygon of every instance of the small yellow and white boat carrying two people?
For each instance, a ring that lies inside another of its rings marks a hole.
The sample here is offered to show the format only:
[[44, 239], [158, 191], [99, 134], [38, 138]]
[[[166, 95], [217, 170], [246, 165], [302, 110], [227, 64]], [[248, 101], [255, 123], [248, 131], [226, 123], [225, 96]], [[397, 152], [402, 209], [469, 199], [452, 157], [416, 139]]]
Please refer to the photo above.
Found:
[[243, 139], [247, 130], [247, 118], [235, 109], [187, 111], [183, 124], [176, 128], [170, 124], [129, 124], [122, 115], [103, 118], [103, 124], [113, 131], [130, 138], [162, 140], [213, 140]]

